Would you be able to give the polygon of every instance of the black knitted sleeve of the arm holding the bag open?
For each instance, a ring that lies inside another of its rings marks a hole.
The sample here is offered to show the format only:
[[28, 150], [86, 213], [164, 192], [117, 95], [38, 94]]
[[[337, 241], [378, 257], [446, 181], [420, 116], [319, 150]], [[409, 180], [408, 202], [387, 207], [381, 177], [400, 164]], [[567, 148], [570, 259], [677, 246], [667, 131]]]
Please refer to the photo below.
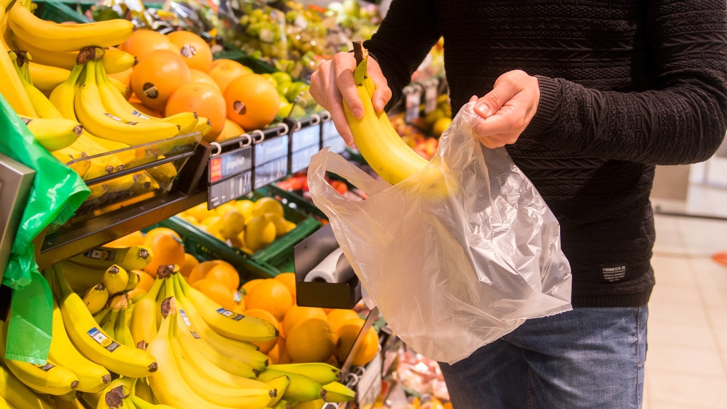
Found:
[[727, 129], [727, 9], [723, 1], [648, 3], [651, 83], [611, 92], [539, 77], [525, 135], [572, 154], [646, 164], [712, 156]]

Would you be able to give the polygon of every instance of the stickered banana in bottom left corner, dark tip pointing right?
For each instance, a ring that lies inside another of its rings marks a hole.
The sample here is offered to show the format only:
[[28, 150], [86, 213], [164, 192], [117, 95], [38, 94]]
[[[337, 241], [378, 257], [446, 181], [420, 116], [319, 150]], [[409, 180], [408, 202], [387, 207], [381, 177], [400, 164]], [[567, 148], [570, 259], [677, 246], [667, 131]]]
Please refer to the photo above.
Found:
[[[7, 326], [3, 325], [0, 330], [0, 357], [5, 357]], [[42, 394], [67, 394], [79, 385], [79, 378], [75, 373], [51, 361], [36, 365], [3, 358], [2, 362], [23, 384]]]

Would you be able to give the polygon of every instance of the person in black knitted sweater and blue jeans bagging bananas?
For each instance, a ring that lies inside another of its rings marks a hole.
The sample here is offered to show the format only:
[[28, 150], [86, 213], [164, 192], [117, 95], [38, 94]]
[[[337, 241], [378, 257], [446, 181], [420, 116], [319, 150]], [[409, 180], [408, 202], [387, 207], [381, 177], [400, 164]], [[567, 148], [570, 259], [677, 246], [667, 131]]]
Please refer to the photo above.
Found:
[[[377, 111], [440, 37], [454, 113], [505, 146], [561, 224], [571, 311], [528, 319], [441, 370], [462, 408], [640, 408], [655, 274], [655, 165], [708, 159], [727, 128], [727, 7], [707, 0], [393, 0], [369, 41]], [[311, 76], [351, 146], [352, 53]]]

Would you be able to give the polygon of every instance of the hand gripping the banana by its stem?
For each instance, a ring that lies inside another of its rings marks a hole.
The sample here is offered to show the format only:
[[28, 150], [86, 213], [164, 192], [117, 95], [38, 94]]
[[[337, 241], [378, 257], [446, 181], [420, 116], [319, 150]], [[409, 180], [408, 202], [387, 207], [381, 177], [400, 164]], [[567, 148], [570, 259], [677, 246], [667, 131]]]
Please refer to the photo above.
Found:
[[[375, 87], [371, 103], [374, 104], [374, 110], [381, 112], [391, 99], [391, 90], [376, 60], [369, 57], [366, 64], [368, 75]], [[359, 119], [364, 116], [364, 106], [361, 105], [356, 83], [353, 81], [355, 69], [356, 58], [353, 57], [353, 52], [339, 52], [331, 60], [321, 63], [318, 70], [310, 76], [310, 95], [318, 105], [331, 113], [336, 130], [348, 146], [353, 146], [353, 135], [343, 113], [342, 101], [346, 102], [353, 116]]]

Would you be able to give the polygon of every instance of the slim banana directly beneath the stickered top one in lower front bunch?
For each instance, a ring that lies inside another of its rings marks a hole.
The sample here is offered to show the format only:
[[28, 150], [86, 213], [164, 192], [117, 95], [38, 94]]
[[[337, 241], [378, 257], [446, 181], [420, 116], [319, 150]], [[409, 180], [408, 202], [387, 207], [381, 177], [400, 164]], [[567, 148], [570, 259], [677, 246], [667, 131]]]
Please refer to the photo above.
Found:
[[172, 279], [174, 280], [174, 297], [177, 300], [180, 316], [185, 322], [185, 327], [191, 333], [204, 339], [220, 354], [233, 354], [237, 359], [242, 360], [252, 368], [262, 370], [268, 366], [268, 356], [260, 352], [259, 346], [249, 341], [228, 338], [214, 332], [201, 317], [196, 306], [188, 300], [182, 291], [180, 280], [184, 278], [180, 277], [180, 274], [174, 274]]

